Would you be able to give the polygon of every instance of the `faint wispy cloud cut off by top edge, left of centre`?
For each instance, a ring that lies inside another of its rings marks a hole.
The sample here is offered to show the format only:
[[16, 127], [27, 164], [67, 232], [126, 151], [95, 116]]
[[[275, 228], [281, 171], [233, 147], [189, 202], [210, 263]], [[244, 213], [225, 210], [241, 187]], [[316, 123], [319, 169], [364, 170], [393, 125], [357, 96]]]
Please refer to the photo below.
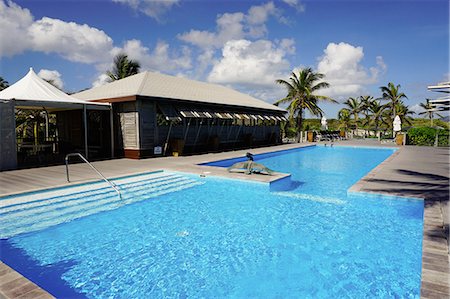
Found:
[[173, 6], [179, 3], [179, 0], [112, 0], [122, 3], [138, 10], [158, 22]]

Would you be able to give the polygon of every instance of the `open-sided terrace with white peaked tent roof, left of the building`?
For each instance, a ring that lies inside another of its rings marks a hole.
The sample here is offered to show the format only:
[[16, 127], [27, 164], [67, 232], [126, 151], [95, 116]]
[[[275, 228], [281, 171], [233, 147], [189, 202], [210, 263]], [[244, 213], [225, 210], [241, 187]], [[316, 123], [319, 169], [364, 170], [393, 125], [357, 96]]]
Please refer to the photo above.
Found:
[[69, 152], [109, 158], [111, 106], [76, 99], [36, 75], [0, 92], [0, 170], [61, 164]]

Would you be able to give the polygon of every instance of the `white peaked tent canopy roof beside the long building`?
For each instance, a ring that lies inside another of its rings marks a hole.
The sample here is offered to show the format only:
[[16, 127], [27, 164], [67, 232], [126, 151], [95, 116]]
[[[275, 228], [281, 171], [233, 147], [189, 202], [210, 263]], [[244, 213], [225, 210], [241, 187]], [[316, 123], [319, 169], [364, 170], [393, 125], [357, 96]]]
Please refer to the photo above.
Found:
[[[0, 91], [0, 99], [14, 100], [16, 106], [72, 108], [89, 105], [90, 109], [109, 109], [109, 104], [76, 99], [40, 78], [30, 68], [25, 77]], [[82, 108], [82, 107], [80, 107]]]

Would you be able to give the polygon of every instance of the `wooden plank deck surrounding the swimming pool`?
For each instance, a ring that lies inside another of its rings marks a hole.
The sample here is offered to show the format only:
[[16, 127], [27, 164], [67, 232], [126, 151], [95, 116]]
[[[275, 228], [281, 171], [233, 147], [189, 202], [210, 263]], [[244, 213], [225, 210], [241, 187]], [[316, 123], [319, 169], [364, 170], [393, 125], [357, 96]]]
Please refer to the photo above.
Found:
[[[377, 141], [342, 141], [335, 145], [393, 147]], [[143, 160], [115, 159], [94, 162], [108, 178], [156, 170], [189, 172], [244, 180], [271, 182], [287, 174], [274, 176], [228, 173], [221, 167], [197, 164], [253, 154], [286, 150], [314, 144], [285, 144], [276, 147], [231, 151], [186, 157], [164, 157]], [[422, 248], [422, 298], [450, 297], [449, 269], [449, 165], [448, 148], [399, 147], [391, 157], [378, 165], [349, 192], [366, 192], [423, 198], [425, 200]], [[99, 178], [86, 164], [70, 165], [71, 183], [66, 182], [65, 166], [0, 172], [0, 196], [66, 186]], [[52, 298], [38, 286], [0, 262], [0, 298]]]

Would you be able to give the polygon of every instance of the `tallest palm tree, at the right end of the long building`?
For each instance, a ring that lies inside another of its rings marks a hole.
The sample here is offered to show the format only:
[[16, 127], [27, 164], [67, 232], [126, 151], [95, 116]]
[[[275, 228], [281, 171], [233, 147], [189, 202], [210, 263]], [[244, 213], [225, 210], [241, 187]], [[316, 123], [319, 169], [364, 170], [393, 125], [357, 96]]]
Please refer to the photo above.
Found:
[[311, 68], [302, 69], [298, 75], [292, 72], [289, 81], [278, 79], [275, 82], [284, 85], [288, 91], [286, 97], [278, 100], [275, 105], [288, 103], [287, 110], [289, 118], [297, 119], [297, 136], [300, 142], [300, 132], [303, 124], [303, 111], [307, 109], [313, 115], [322, 116], [323, 111], [318, 106], [318, 101], [329, 101], [336, 103], [335, 100], [317, 95], [316, 92], [323, 88], [328, 88], [330, 84], [323, 81], [324, 74], [316, 73]]

